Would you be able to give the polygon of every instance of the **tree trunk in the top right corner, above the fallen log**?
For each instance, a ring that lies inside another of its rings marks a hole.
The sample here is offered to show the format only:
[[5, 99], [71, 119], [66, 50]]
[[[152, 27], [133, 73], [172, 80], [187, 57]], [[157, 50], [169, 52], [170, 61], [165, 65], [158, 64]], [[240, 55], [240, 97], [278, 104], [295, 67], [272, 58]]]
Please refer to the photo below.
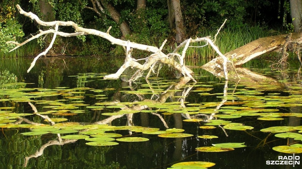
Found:
[[302, 0], [290, 0], [290, 13], [292, 16], [295, 32], [301, 31]]

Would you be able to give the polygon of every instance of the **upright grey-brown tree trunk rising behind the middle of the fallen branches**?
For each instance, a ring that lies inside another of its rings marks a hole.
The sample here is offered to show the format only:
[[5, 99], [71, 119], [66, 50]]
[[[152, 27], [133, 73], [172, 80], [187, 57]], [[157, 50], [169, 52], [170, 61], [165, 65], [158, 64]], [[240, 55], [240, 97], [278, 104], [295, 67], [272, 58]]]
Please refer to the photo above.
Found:
[[180, 0], [172, 0], [171, 1], [172, 9], [175, 13], [175, 26], [176, 26], [176, 36], [175, 41], [177, 44], [182, 43], [185, 39], [186, 28], [182, 19], [182, 10], [180, 7]]

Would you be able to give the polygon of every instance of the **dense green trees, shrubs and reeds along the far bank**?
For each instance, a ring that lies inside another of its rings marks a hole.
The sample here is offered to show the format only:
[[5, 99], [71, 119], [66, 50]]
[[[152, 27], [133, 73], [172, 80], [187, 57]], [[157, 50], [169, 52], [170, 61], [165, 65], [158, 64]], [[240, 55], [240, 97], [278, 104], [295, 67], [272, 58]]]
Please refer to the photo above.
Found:
[[[209, 35], [214, 37], [225, 18], [228, 18], [228, 21], [216, 41], [222, 53], [261, 37], [294, 31], [289, 1], [261, 0], [257, 1], [257, 4], [254, 1], [243, 0], [182, 1], [178, 2], [182, 12], [180, 14], [175, 13], [179, 10], [175, 2], [4, 0], [1, 3], [0, 57], [35, 55], [46, 48], [51, 40], [50, 36], [40, 37], [37, 43], [27, 44], [15, 53], [8, 53], [13, 45], [5, 44], [6, 41], [22, 41], [34, 36], [36, 33], [33, 32], [39, 29], [47, 29], [33, 24], [29, 18], [20, 15], [16, 10], [16, 4], [20, 4], [25, 11], [36, 13], [44, 21], [73, 21], [85, 28], [104, 32], [112, 26], [110, 35], [139, 44], [159, 47], [165, 39], [168, 39], [163, 51], [173, 51], [177, 44], [189, 37]], [[182, 22], [183, 26], [177, 25], [179, 22]], [[60, 29], [70, 33], [73, 31], [70, 28]], [[48, 54], [115, 56], [123, 55], [124, 50], [103, 38], [83, 35], [58, 38]], [[214, 50], [210, 48], [189, 48], [187, 54], [192, 58], [215, 57]], [[144, 52], [134, 51], [133, 55], [143, 57]]]

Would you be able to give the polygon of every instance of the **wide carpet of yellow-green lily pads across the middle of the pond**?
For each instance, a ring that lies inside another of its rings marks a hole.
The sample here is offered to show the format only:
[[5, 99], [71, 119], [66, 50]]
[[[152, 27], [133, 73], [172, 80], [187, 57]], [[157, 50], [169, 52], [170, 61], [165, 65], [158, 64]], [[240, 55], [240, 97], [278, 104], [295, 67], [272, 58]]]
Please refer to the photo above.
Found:
[[[102, 78], [105, 74], [79, 74], [74, 77], [79, 79], [85, 79], [82, 82], [89, 82], [89, 78]], [[103, 80], [103, 79], [98, 79]], [[15, 107], [4, 106], [0, 107], [0, 126], [7, 128], [30, 128], [30, 132], [22, 133], [23, 135], [43, 135], [43, 134], [68, 134], [77, 133], [72, 135], [60, 136], [62, 139], [86, 139], [88, 145], [94, 146], [106, 146], [118, 144], [116, 141], [148, 141], [147, 138], [132, 137], [132, 136], [121, 136], [117, 133], [107, 132], [116, 130], [129, 130], [131, 132], [142, 132], [143, 134], [156, 134], [159, 137], [190, 137], [193, 135], [180, 133], [182, 129], [167, 129], [166, 131], [160, 131], [158, 128], [146, 128], [140, 126], [109, 126], [109, 125], [80, 125], [79, 123], [57, 123], [54, 125], [48, 125], [46, 122], [61, 122], [67, 121], [67, 118], [48, 118], [45, 119], [41, 125], [30, 125], [30, 124], [7, 124], [15, 122], [26, 115], [45, 115], [52, 114], [55, 116], [68, 116], [77, 115], [79, 113], [85, 113], [94, 110], [106, 109], [108, 112], [103, 112], [102, 115], [115, 116], [125, 115], [132, 113], [161, 113], [161, 115], [172, 115], [174, 113], [183, 113], [188, 115], [196, 114], [213, 114], [214, 117], [219, 118], [218, 120], [209, 120], [200, 126], [202, 129], [215, 128], [215, 125], [223, 126], [224, 129], [228, 130], [251, 130], [252, 126], [244, 125], [243, 123], [232, 123], [232, 121], [226, 121], [223, 119], [240, 118], [242, 116], [259, 116], [257, 120], [283, 120], [282, 117], [296, 116], [301, 117], [301, 113], [287, 113], [280, 112], [276, 107], [291, 107], [301, 106], [302, 98], [299, 95], [291, 96], [278, 96], [280, 93], [269, 93], [264, 96], [263, 91], [275, 90], [278, 87], [264, 83], [263, 85], [237, 85], [234, 88], [227, 89], [227, 95], [225, 93], [208, 93], [213, 90], [212, 86], [206, 85], [204, 82], [199, 82], [193, 85], [195, 88], [192, 92], [198, 92], [201, 97], [205, 95], [217, 95], [217, 98], [222, 100], [228, 100], [219, 109], [216, 106], [220, 105], [221, 102], [202, 102], [202, 103], [188, 103], [182, 102], [186, 106], [180, 106], [181, 102], [157, 102], [154, 100], [143, 100], [136, 102], [97, 102], [93, 105], [85, 104], [83, 99], [85, 97], [93, 97], [96, 100], [106, 100], [107, 95], [101, 93], [106, 90], [115, 90], [113, 88], [108, 89], [93, 89], [88, 87], [68, 88], [58, 87], [55, 89], [42, 89], [42, 88], [25, 88], [25, 83], [14, 83], [15, 85], [21, 86], [18, 89], [0, 89], [0, 102], [3, 105], [13, 105], [14, 102], [31, 102], [35, 105], [41, 105], [42, 109], [51, 109], [48, 111], [41, 111], [35, 113], [14, 113]], [[141, 84], [140, 89], [137, 90], [122, 90], [120, 92], [130, 95], [160, 95], [166, 92], [180, 92], [182, 90], [165, 90], [170, 85], [176, 84], [175, 81], [168, 81], [157, 79], [152, 83]], [[12, 85], [12, 84], [10, 84]], [[222, 84], [217, 84], [222, 85]], [[126, 87], [127, 88], [127, 87]], [[251, 90], [254, 88], [256, 90]], [[299, 87], [289, 87], [288, 91], [300, 91]], [[93, 93], [87, 95], [87, 92]], [[223, 96], [222, 96], [223, 95]], [[58, 96], [60, 100], [44, 100], [45, 97]], [[174, 98], [183, 96], [174, 96]], [[47, 104], [47, 105], [46, 105]], [[240, 106], [235, 106], [240, 105]], [[133, 109], [135, 106], [146, 106], [148, 109], [136, 110]], [[268, 109], [269, 108], [269, 109]], [[192, 118], [185, 119], [186, 122], [200, 122], [204, 119]], [[279, 136], [279, 135], [277, 135]], [[283, 136], [283, 135], [281, 135]], [[292, 136], [292, 135], [290, 135]], [[295, 139], [301, 141], [301, 138], [296, 135]], [[199, 138], [215, 138], [216, 136], [198, 136]], [[115, 139], [117, 138], [117, 139]], [[237, 146], [244, 146], [242, 143], [231, 143], [238, 144]], [[219, 144], [215, 144], [219, 148]], [[217, 146], [218, 145], [218, 146]], [[236, 145], [232, 145], [236, 146]], [[215, 148], [215, 149], [216, 149]], [[220, 147], [223, 148], [223, 147]], [[233, 148], [233, 147], [229, 147]], [[199, 151], [199, 150], [198, 150]]]

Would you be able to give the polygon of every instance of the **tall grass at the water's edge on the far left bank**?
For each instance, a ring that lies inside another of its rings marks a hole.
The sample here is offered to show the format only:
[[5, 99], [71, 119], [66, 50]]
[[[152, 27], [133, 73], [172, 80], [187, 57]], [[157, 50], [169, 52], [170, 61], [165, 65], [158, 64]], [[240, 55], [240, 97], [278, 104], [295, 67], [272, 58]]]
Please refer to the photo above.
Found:
[[39, 52], [40, 46], [36, 41], [30, 41], [27, 44], [20, 46], [18, 49], [4, 53], [0, 52], [0, 58], [18, 58], [24, 56], [33, 56]]

